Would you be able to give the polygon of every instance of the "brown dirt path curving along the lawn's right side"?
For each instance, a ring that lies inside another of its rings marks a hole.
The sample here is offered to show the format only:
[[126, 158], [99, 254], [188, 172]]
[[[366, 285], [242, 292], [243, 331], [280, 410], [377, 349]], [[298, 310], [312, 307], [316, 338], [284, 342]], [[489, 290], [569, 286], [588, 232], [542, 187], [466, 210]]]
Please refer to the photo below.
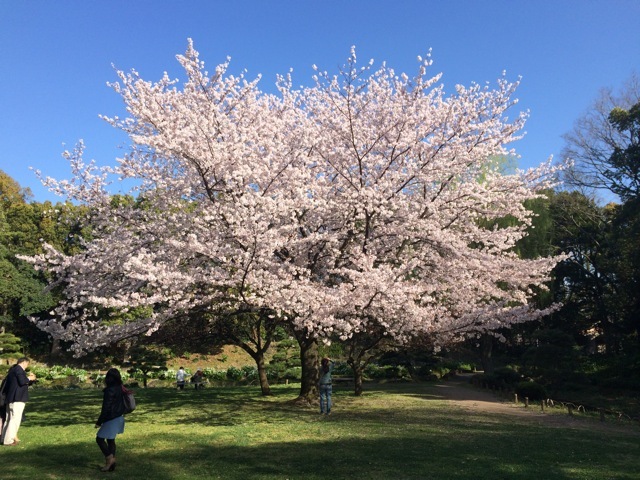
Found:
[[640, 436], [637, 425], [613, 422], [600, 422], [585, 415], [570, 416], [560, 408], [548, 409], [543, 412], [539, 405], [516, 405], [513, 401], [498, 398], [493, 392], [474, 387], [469, 383], [471, 375], [458, 375], [445, 383], [438, 384], [439, 392], [452, 405], [470, 412], [495, 413], [523, 418], [526, 421], [541, 425], [557, 426], [577, 429], [600, 429], [624, 431]]

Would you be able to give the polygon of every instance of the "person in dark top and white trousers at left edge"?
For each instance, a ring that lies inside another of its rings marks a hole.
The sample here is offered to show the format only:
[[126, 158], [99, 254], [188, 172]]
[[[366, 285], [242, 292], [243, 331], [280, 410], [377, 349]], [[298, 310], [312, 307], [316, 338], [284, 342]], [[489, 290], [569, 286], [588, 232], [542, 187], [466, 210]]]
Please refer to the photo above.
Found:
[[27, 374], [27, 368], [29, 368], [29, 359], [22, 357], [7, 373], [5, 384], [7, 413], [6, 421], [2, 426], [2, 444], [5, 446], [15, 447], [20, 443], [18, 430], [22, 423], [24, 407], [29, 400], [29, 385], [36, 380], [33, 373]]

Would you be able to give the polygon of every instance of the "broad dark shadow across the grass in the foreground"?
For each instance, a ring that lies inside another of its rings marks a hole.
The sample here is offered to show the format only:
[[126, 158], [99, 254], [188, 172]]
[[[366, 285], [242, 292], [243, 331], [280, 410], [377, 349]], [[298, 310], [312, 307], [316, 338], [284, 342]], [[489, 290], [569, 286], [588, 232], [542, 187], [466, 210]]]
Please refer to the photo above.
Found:
[[[329, 425], [327, 428], [331, 428]], [[523, 432], [531, 433], [531, 432]], [[175, 448], [154, 448], [157, 439], [126, 434], [119, 440], [118, 467], [109, 478], [136, 480], [212, 479], [446, 479], [529, 480], [545, 478], [637, 478], [629, 464], [617, 465], [615, 477], [596, 448], [572, 456], [553, 448], [536, 448], [535, 436], [513, 437], [510, 428], [486, 432], [470, 426], [464, 436], [419, 434], [274, 441], [250, 446], [214, 444], [202, 437], [175, 435]], [[578, 439], [568, 439], [576, 440]], [[55, 440], [54, 440], [55, 441]], [[510, 448], [507, 448], [510, 445]], [[638, 453], [636, 448], [635, 454]], [[89, 479], [101, 475], [100, 453], [90, 441], [59, 445], [28, 444], [11, 450], [2, 478]], [[528, 452], [523, 455], [522, 452]], [[588, 453], [591, 452], [591, 453]], [[2, 452], [6, 454], [6, 451]], [[633, 452], [632, 452], [633, 453]], [[583, 471], [582, 474], [575, 473]], [[574, 473], [571, 473], [574, 472]], [[587, 472], [586, 474], [584, 472]]]

